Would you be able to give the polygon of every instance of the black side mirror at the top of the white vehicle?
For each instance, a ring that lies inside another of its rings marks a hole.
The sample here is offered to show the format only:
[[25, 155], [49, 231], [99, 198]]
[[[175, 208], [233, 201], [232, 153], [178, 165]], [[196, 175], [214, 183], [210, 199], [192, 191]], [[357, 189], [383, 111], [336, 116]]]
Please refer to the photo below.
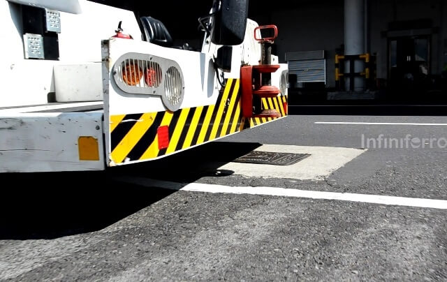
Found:
[[[244, 41], [249, 0], [215, 0], [211, 41], [216, 45], [239, 45]], [[220, 5], [219, 5], [220, 4]]]

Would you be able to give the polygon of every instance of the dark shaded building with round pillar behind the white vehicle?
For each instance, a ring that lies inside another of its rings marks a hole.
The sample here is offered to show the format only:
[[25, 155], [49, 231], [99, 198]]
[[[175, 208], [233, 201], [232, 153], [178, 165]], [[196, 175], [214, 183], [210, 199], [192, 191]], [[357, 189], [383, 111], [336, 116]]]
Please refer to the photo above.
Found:
[[[97, 1], [158, 17], [177, 44], [196, 47], [203, 36], [197, 19], [212, 3], [175, 1], [167, 10], [166, 3], [152, 1]], [[291, 94], [302, 101], [446, 101], [445, 0], [251, 0], [249, 17], [279, 28], [274, 49], [281, 62], [289, 63]], [[344, 75], [337, 82], [336, 54], [369, 54], [370, 63], [355, 60], [353, 72], [362, 75], [352, 77], [351, 84], [349, 60], [342, 59], [338, 67]]]

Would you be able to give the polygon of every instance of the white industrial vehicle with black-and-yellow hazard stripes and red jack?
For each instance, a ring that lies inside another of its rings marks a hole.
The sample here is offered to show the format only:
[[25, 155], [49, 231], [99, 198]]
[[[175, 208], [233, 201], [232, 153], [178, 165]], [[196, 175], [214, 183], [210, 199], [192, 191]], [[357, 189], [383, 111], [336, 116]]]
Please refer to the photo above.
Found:
[[247, 20], [248, 0], [210, 8], [196, 51], [173, 46], [156, 15], [0, 0], [0, 172], [105, 170], [286, 117], [276, 27]]

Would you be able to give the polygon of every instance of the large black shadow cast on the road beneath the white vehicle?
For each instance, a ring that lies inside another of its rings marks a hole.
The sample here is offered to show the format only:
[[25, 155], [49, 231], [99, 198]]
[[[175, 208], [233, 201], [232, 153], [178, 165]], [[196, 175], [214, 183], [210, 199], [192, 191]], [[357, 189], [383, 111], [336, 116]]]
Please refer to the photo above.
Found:
[[0, 239], [53, 239], [101, 230], [175, 192], [124, 183], [117, 180], [120, 176], [190, 183], [204, 176], [230, 175], [219, 166], [259, 146], [212, 142], [105, 172], [0, 175]]

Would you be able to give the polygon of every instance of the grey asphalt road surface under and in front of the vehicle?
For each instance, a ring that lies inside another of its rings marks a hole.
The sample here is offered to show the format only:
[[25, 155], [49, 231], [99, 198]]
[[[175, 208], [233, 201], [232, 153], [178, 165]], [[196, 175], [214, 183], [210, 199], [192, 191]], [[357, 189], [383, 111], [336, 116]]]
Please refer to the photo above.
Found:
[[[2, 175], [0, 280], [446, 281], [446, 209], [171, 191], [120, 180], [447, 200], [447, 149], [430, 146], [430, 139], [447, 138], [447, 126], [432, 124], [446, 123], [446, 117], [291, 116], [155, 163], [104, 173]], [[376, 147], [362, 136], [376, 139]], [[379, 136], [427, 140], [424, 148], [403, 141], [385, 149]], [[367, 150], [323, 179], [219, 169], [261, 144]]]

